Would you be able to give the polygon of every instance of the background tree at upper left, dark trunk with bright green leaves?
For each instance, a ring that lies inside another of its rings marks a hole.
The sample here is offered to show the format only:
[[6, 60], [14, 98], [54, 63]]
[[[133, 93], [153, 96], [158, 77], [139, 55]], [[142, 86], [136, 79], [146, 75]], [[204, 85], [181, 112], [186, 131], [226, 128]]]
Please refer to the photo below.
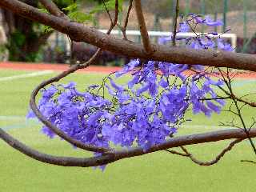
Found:
[[[34, 6], [35, 8], [43, 8], [38, 0], [23, 0], [27, 5]], [[55, 0], [56, 5], [60, 10], [73, 4], [74, 0]], [[83, 0], [77, 1], [80, 3], [95, 2], [101, 3], [101, 1]], [[66, 14], [68, 10], [62, 10]], [[2, 22], [4, 29], [6, 30], [6, 36], [8, 43], [6, 48], [9, 50], [10, 61], [22, 61], [22, 62], [34, 62], [40, 60], [42, 46], [46, 45], [46, 42], [53, 30], [45, 31], [38, 22], [33, 22], [22, 18], [17, 14], [14, 14], [10, 10], [1, 10]]]

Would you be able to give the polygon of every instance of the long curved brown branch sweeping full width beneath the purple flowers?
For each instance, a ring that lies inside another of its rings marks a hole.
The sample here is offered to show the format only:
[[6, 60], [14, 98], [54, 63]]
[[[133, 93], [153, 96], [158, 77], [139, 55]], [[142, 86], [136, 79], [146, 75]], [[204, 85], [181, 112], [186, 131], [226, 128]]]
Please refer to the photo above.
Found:
[[[250, 137], [256, 137], [256, 129], [250, 130]], [[66, 158], [56, 157], [49, 154], [42, 154], [37, 150], [30, 149], [18, 140], [12, 138], [0, 128], [0, 138], [7, 142], [14, 149], [21, 151], [41, 162], [46, 162], [58, 166], [101, 166], [111, 162], [116, 162], [122, 158], [132, 158], [143, 154], [153, 153], [158, 150], [167, 150], [172, 147], [194, 145], [204, 142], [218, 142], [230, 138], [246, 139], [247, 135], [240, 129], [218, 130], [206, 134], [192, 134], [171, 138], [157, 146], [152, 146], [149, 150], [143, 151], [141, 147], [134, 147], [128, 150], [111, 151], [108, 154], [103, 154], [95, 158]]]

